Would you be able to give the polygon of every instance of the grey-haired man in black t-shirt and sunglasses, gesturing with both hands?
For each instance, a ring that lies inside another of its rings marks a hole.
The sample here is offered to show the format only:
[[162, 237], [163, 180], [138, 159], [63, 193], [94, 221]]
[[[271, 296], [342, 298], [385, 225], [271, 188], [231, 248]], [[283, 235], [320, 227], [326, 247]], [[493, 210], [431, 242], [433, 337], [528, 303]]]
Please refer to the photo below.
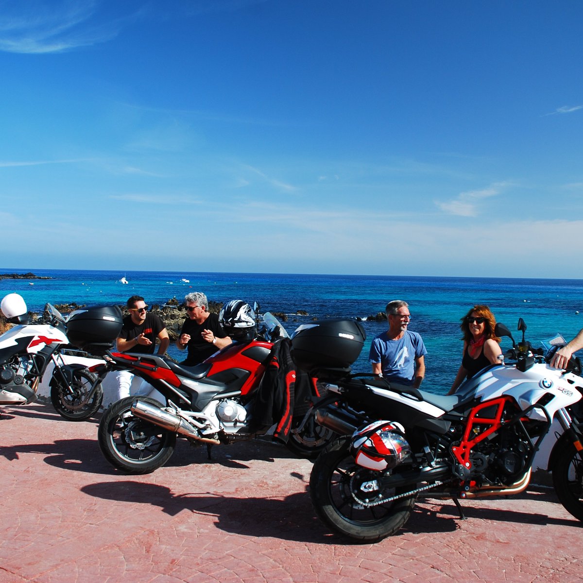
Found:
[[180, 364], [195, 366], [233, 342], [219, 324], [219, 315], [209, 312], [205, 294], [193, 291], [184, 297], [188, 318], [176, 340], [178, 350], [188, 348], [188, 356]]

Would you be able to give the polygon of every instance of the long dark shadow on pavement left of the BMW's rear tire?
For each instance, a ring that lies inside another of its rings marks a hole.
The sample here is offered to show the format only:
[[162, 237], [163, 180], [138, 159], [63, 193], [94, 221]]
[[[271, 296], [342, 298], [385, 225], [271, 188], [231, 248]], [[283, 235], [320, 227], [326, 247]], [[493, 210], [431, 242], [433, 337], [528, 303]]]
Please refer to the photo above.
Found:
[[88, 484], [81, 491], [104, 500], [159, 507], [161, 512], [173, 517], [182, 511], [216, 517], [216, 528], [234, 535], [338, 544], [342, 539], [326, 531], [315, 517], [305, 484], [302, 486], [303, 491], [284, 498], [237, 497], [213, 492], [174, 494], [167, 486], [131, 480]]

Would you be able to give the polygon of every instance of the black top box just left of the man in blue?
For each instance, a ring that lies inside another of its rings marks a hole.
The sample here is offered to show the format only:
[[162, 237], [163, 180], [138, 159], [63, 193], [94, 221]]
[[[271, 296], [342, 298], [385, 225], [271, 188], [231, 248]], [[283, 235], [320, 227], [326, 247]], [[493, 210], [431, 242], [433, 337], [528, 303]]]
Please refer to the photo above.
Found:
[[319, 320], [299, 326], [291, 336], [291, 358], [300, 370], [350, 370], [359, 357], [366, 332], [353, 320]]

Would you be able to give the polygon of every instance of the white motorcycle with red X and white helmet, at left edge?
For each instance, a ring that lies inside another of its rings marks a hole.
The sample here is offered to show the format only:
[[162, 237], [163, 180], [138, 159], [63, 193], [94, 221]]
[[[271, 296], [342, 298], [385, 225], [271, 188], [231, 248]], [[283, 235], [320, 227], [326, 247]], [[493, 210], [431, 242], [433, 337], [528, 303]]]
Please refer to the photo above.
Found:
[[87, 368], [104, 360], [80, 356], [69, 344], [65, 318], [46, 304], [40, 324], [29, 324], [26, 303], [19, 294], [2, 299], [2, 313], [16, 324], [0, 336], [0, 405], [26, 405], [36, 401], [38, 385], [50, 363], [51, 402], [69, 421], [89, 419], [101, 406], [103, 390]]

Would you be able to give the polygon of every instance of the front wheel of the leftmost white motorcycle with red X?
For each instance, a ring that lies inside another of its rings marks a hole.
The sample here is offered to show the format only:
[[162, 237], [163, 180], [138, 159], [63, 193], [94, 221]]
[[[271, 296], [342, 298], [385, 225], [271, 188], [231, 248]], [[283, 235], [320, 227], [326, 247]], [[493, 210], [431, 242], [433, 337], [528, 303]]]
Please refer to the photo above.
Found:
[[[56, 371], [55, 371], [56, 372]], [[73, 372], [73, 394], [69, 392], [58, 375], [52, 377], [51, 402], [57, 413], [68, 421], [84, 421], [99, 411], [103, 402], [101, 383], [89, 396], [96, 375], [88, 370], [79, 369]]]

